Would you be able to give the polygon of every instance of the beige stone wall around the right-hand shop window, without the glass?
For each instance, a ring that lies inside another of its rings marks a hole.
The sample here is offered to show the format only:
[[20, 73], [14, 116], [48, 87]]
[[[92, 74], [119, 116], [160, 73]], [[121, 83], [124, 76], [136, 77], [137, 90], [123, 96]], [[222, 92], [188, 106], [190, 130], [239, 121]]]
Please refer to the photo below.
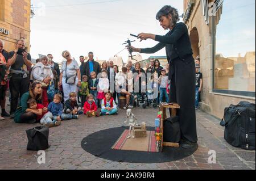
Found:
[[[187, 9], [189, 0], [184, 1], [184, 12]], [[198, 45], [192, 39], [192, 49], [195, 53], [193, 57], [200, 54], [201, 73], [203, 73], [203, 91], [201, 92], [201, 110], [210, 113], [213, 116], [222, 118], [224, 115], [224, 108], [230, 104], [238, 104], [240, 101], [249, 101], [255, 103], [255, 97], [235, 96], [227, 94], [216, 94], [212, 92], [212, 32], [211, 27], [205, 23], [203, 16], [203, 6], [200, 0], [195, 0], [192, 14], [187, 22], [189, 35], [195, 36], [195, 31], [198, 32]], [[199, 48], [197, 52], [196, 48]]]

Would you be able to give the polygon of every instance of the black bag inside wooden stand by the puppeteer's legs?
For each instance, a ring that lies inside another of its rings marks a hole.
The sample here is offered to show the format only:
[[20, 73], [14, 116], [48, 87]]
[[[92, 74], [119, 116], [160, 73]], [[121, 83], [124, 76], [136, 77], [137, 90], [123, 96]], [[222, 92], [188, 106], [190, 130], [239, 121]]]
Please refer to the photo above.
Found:
[[179, 117], [170, 117], [163, 122], [164, 132], [163, 141], [164, 142], [180, 142], [180, 123]]

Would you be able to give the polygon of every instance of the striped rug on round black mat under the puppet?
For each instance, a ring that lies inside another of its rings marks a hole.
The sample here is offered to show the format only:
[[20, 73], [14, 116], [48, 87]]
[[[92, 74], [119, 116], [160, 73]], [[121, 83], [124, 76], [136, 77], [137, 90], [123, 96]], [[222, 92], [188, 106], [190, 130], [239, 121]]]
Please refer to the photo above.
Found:
[[114, 150], [130, 150], [130, 151], [156, 151], [155, 131], [147, 131], [145, 138], [130, 138], [127, 139], [129, 130], [125, 130], [115, 144], [112, 146]]

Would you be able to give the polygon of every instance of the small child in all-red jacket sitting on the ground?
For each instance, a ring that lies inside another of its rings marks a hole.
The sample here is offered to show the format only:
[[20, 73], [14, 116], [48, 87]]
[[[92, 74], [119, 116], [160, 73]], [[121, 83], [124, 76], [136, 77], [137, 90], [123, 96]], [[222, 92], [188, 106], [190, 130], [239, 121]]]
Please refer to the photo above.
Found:
[[87, 96], [87, 101], [84, 103], [84, 114], [88, 117], [100, 116], [100, 112], [97, 111], [96, 103], [93, 100], [93, 95], [89, 94]]

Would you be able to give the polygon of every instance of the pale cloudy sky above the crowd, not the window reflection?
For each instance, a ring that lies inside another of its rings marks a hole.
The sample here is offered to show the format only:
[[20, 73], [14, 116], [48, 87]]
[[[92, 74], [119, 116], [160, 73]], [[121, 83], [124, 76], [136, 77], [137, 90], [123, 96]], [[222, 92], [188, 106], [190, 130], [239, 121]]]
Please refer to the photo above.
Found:
[[[31, 56], [53, 54], [55, 62], [63, 61], [61, 53], [69, 50], [72, 57], [88, 56], [94, 52], [94, 58], [109, 60], [125, 48], [130, 33], [141, 32], [165, 35], [155, 19], [156, 13], [164, 6], [171, 5], [183, 14], [183, 1], [179, 0], [75, 0], [50, 1], [32, 0], [35, 16], [31, 19]], [[182, 18], [181, 18], [182, 20]], [[137, 48], [156, 45], [154, 40], [136, 41]], [[126, 62], [127, 50], [118, 56]], [[150, 56], [166, 56], [165, 49], [155, 54], [141, 54], [143, 60]]]

